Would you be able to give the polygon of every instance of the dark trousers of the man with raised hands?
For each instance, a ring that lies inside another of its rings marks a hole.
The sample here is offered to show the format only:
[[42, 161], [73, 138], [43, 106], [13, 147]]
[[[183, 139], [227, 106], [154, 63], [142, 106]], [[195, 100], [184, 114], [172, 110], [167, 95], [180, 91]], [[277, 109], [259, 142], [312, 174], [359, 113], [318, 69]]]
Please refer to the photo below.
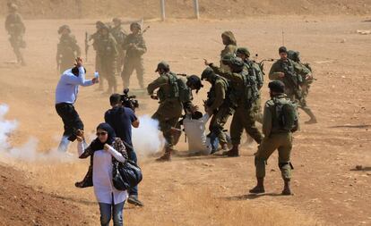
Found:
[[72, 104], [60, 103], [56, 104], [56, 113], [62, 118], [64, 123], [65, 132], [63, 136], [68, 137], [69, 140], [74, 141], [76, 130], [83, 130], [83, 123], [79, 114], [74, 110]]

